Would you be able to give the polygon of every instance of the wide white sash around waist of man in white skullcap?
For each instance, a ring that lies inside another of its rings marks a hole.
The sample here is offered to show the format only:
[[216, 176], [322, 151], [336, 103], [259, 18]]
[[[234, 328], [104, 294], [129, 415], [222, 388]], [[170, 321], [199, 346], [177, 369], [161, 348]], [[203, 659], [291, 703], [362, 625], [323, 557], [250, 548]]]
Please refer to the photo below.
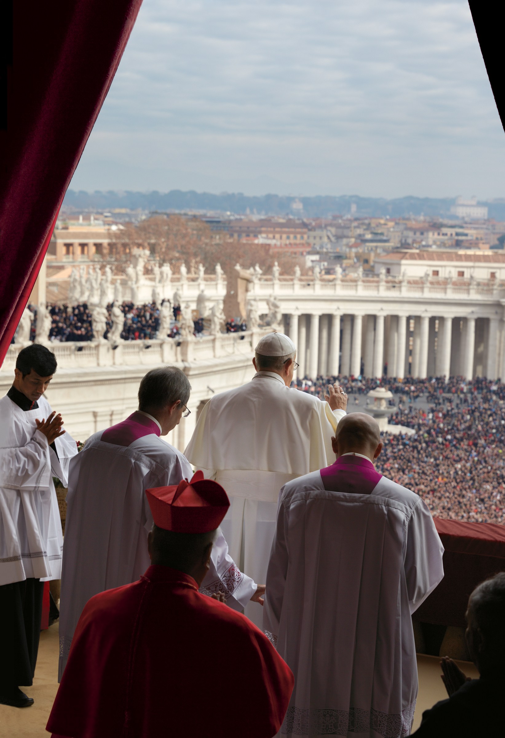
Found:
[[258, 469], [220, 469], [217, 471], [216, 482], [223, 486], [229, 497], [276, 503], [282, 486], [298, 476], [284, 472], [262, 472]]

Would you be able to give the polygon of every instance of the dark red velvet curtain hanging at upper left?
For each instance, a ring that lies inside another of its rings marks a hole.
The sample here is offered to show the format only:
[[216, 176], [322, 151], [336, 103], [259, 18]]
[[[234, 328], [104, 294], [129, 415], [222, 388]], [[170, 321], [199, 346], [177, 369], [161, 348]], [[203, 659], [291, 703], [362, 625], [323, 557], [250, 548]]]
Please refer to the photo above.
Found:
[[0, 364], [141, 4], [1, 4]]

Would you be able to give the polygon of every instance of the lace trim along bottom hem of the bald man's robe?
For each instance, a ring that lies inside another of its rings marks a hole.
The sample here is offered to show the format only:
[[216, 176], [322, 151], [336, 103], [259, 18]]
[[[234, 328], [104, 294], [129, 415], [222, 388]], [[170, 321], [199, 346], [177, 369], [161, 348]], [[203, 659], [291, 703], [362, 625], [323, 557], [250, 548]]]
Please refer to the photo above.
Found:
[[352, 707], [350, 710], [288, 707], [281, 734], [316, 738], [317, 736], [346, 736], [348, 733], [374, 731], [383, 738], [403, 738], [411, 731], [415, 708], [415, 700], [400, 714], [388, 714], [374, 709], [363, 710], [358, 707]]

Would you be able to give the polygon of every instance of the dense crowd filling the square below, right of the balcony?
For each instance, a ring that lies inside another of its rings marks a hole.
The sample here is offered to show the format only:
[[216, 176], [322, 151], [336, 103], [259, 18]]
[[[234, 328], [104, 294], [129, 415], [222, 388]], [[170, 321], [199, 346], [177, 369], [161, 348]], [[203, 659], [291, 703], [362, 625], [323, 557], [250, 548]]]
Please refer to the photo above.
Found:
[[[448, 382], [339, 377], [338, 382], [351, 406], [352, 396], [387, 387], [397, 402], [389, 423], [415, 430], [414, 435], [383, 434], [380, 472], [417, 492], [437, 517], [505, 524], [504, 383], [481, 377]], [[319, 397], [327, 383], [323, 377], [313, 383], [298, 380], [299, 389]], [[428, 409], [418, 406], [419, 398]]]

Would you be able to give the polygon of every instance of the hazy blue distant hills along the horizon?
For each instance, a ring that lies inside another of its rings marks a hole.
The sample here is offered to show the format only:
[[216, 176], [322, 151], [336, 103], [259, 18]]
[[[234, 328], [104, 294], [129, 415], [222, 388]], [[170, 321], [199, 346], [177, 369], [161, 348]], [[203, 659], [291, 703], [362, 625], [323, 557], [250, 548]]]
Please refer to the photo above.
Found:
[[[302, 203], [303, 210], [293, 207]], [[171, 190], [160, 193], [156, 190], [144, 192], [75, 192], [67, 190], [63, 204], [75, 210], [103, 211], [116, 208], [128, 210], [148, 210], [159, 212], [199, 210], [233, 213], [234, 215], [299, 215], [305, 217], [325, 217], [329, 215], [349, 215], [352, 210], [356, 216], [384, 216], [390, 218], [409, 215], [428, 215], [428, 217], [447, 217], [454, 198], [400, 197], [387, 200], [378, 197], [359, 197], [358, 195], [292, 197], [280, 195], [247, 196], [242, 193], [198, 193], [194, 190], [182, 192]], [[487, 201], [489, 217], [505, 221], [505, 200]], [[355, 206], [355, 210], [354, 207]]]

